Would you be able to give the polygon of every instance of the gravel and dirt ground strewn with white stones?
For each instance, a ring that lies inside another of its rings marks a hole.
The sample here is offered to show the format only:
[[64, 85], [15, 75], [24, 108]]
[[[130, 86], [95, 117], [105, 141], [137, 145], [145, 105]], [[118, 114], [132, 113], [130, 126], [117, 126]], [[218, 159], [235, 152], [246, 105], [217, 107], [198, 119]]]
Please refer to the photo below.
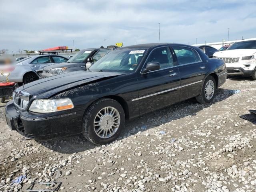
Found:
[[67, 192], [253, 192], [256, 126], [239, 116], [256, 109], [255, 93], [256, 81], [228, 79], [214, 103], [192, 99], [136, 118], [106, 146], [82, 136], [26, 140], [9, 130], [2, 104], [0, 191], [60, 181]]

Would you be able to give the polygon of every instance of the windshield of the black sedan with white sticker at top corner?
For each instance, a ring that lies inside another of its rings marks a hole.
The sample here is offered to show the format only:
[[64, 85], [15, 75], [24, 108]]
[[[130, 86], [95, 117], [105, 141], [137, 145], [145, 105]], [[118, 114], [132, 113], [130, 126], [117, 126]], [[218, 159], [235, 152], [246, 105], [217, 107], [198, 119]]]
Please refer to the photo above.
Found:
[[146, 50], [144, 49], [120, 49], [114, 50], [95, 64], [90, 71], [108, 71], [108, 72], [133, 72], [140, 64]]

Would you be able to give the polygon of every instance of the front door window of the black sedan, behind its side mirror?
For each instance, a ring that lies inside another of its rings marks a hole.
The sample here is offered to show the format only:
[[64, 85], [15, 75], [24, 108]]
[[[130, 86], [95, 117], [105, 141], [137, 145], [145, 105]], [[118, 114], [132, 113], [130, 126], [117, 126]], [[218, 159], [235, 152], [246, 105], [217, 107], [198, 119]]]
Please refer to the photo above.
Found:
[[161, 47], [153, 50], [146, 63], [149, 62], [158, 62], [160, 64], [160, 69], [174, 66], [172, 55], [170, 54], [168, 47]]

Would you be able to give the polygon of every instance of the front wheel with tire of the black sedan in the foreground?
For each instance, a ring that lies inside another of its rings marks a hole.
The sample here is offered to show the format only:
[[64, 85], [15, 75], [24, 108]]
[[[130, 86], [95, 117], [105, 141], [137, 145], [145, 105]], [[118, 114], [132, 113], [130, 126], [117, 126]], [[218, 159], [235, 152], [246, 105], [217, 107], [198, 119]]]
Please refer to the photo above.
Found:
[[[107, 107], [108, 112], [105, 111]], [[112, 113], [113, 115], [111, 116], [110, 114]], [[103, 120], [97, 116], [98, 114], [103, 117]], [[120, 103], [113, 99], [103, 98], [94, 102], [84, 113], [82, 134], [94, 144], [107, 144], [118, 138], [122, 130], [124, 130], [124, 122], [124, 109]]]

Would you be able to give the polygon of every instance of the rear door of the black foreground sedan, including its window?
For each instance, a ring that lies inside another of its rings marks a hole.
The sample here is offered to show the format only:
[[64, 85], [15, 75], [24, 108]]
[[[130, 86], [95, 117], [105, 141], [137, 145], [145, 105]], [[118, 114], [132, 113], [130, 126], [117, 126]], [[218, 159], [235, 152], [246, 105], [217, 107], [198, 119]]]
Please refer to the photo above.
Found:
[[200, 94], [207, 65], [196, 50], [186, 46], [172, 46], [180, 72], [180, 101]]

